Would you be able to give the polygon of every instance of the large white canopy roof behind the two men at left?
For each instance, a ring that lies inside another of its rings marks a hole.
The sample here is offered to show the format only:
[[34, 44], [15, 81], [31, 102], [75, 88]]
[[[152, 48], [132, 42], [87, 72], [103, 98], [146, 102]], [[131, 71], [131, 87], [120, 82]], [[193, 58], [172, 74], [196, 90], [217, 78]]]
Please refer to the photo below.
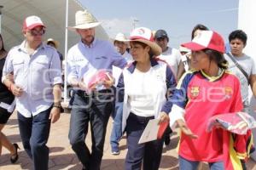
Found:
[[[26, 16], [38, 15], [47, 27], [45, 39], [51, 37], [60, 42], [58, 50], [64, 54], [66, 0], [1, 0], [2, 8], [2, 36], [4, 46], [9, 48], [23, 41], [21, 33], [22, 23]], [[74, 26], [75, 13], [85, 9], [79, 1], [68, 1], [68, 26]], [[108, 39], [108, 34], [102, 26], [96, 27], [96, 37]], [[68, 48], [78, 42], [79, 36], [68, 31]]]

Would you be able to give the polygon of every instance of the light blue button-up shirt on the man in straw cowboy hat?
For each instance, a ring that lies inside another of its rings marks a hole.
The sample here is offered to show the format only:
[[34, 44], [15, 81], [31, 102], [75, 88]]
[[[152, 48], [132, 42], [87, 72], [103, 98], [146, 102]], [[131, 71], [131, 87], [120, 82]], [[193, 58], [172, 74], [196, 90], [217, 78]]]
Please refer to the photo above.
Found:
[[112, 71], [112, 66], [124, 68], [126, 60], [108, 41], [95, 39], [90, 47], [82, 41], [68, 50], [67, 54], [67, 82], [73, 78], [83, 81], [87, 84], [90, 77], [96, 74], [96, 71], [107, 69]]

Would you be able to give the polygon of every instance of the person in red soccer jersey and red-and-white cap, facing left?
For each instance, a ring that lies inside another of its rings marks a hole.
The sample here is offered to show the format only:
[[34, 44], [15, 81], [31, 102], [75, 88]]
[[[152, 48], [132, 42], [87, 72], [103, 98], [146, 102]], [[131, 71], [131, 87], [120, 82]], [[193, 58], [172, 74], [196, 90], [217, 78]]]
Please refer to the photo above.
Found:
[[194, 71], [183, 75], [167, 101], [173, 105], [170, 125], [173, 128], [177, 123], [182, 131], [179, 167], [196, 169], [200, 161], [206, 161], [211, 169], [242, 169], [241, 159], [246, 159], [251, 149], [247, 148], [251, 132], [236, 135], [217, 127], [206, 131], [211, 116], [242, 110], [240, 82], [226, 71], [224, 40], [215, 31], [201, 31], [182, 46], [192, 51]]

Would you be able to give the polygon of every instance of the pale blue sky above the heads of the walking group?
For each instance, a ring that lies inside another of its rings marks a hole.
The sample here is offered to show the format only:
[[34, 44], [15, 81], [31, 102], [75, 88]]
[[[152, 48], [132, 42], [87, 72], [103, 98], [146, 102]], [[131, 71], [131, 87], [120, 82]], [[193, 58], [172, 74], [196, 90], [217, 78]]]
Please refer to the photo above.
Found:
[[204, 24], [225, 40], [237, 28], [239, 0], [79, 0], [88, 8], [110, 37], [118, 32], [129, 36], [133, 20], [137, 26], [164, 29], [169, 45], [177, 48], [190, 40], [193, 27]]

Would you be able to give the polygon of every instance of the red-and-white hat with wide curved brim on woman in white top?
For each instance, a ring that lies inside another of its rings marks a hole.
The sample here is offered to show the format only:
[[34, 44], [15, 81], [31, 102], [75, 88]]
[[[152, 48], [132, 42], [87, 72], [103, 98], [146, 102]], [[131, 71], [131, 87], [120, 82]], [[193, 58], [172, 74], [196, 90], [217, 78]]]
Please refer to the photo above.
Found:
[[143, 42], [147, 44], [154, 53], [158, 56], [162, 53], [162, 49], [154, 42], [154, 36], [151, 30], [145, 27], [139, 27], [131, 31], [130, 42]]

